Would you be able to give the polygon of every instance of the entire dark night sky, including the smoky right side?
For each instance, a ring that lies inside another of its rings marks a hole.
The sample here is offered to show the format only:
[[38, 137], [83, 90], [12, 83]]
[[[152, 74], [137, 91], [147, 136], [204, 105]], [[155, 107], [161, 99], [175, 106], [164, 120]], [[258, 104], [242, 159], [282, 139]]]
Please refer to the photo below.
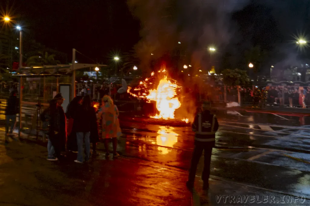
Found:
[[[288, 46], [292, 45], [293, 36], [309, 32], [308, 0], [180, 0], [178, 2], [130, 0], [130, 2], [134, 2], [133, 6], [138, 8], [135, 10], [138, 13], [133, 12], [137, 16], [135, 18], [131, 13], [133, 10], [128, 9], [126, 0], [7, 0], [7, 5], [12, 8], [11, 13], [21, 15], [21, 20], [27, 29], [24, 38], [35, 39], [47, 47], [65, 52], [68, 54], [68, 60], [71, 58], [72, 48], [93, 59], [97, 58], [98, 61], [106, 61], [111, 52], [130, 50], [140, 39], [139, 20], [142, 22], [142, 28], [148, 27], [149, 31], [158, 30], [156, 26], [152, 28], [146, 21], [151, 23], [154, 19], [162, 21], [162, 14], [157, 11], [160, 11], [166, 2], [170, 2], [173, 6], [173, 9], [170, 9], [172, 14], [170, 20], [173, 21], [176, 31], [181, 31], [182, 35], [185, 35], [185, 37], [180, 35], [179, 38], [183, 38], [184, 41], [190, 40], [197, 45], [201, 42], [218, 43], [221, 52], [233, 51], [236, 45], [247, 48], [259, 44], [267, 48], [270, 44], [270, 48], [267, 49], [272, 50], [274, 49], [272, 45], [277, 45], [290, 54], [294, 53], [294, 49], [291, 50]], [[201, 6], [202, 2], [206, 5]], [[1, 5], [2, 9], [6, 10], [3, 2]], [[215, 14], [214, 19], [203, 20], [212, 18], [204, 14], [206, 12], [199, 11], [203, 6], [207, 9], [216, 7], [212, 11]], [[225, 18], [222, 17], [224, 12], [226, 12]], [[197, 17], [199, 14], [201, 16]], [[195, 23], [192, 23], [192, 19]], [[190, 27], [185, 24], [196, 26]], [[160, 24], [157, 26], [161, 27]], [[218, 33], [210, 35], [212, 32], [206, 29], [213, 28]], [[208, 35], [205, 35], [206, 33]], [[165, 35], [175, 37], [172, 33]], [[190, 38], [186, 38], [186, 35]], [[203, 38], [204, 36], [206, 37]], [[148, 36], [144, 37], [147, 39]], [[194, 44], [191, 45], [193, 47]], [[238, 49], [235, 51], [238, 52]]]

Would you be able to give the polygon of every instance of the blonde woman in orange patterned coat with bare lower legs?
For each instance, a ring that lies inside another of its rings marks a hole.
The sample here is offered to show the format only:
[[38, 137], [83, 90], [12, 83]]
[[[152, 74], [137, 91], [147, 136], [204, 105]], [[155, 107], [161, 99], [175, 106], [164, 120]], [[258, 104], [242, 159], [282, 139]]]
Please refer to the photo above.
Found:
[[111, 97], [105, 95], [102, 98], [102, 107], [100, 108], [97, 118], [100, 119], [102, 125], [102, 138], [104, 139], [104, 147], [106, 156], [109, 155], [108, 141], [113, 139], [113, 156], [117, 157], [117, 137], [122, 136], [122, 131], [118, 121], [118, 109], [113, 104]]

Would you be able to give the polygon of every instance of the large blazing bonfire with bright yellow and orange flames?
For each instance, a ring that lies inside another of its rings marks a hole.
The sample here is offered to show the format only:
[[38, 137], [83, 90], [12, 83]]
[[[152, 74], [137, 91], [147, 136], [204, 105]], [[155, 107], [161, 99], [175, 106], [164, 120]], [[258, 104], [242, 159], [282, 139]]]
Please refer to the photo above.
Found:
[[[168, 78], [165, 68], [160, 69], [157, 73], [155, 75], [155, 72], [152, 72], [150, 78], [141, 81], [135, 88], [128, 87], [127, 92], [134, 97], [145, 99], [148, 102], [156, 102], [156, 108], [159, 114], [151, 116], [151, 118], [174, 119], [175, 110], [181, 106], [178, 93], [182, 89], [182, 86], [175, 80]], [[157, 78], [160, 80], [155, 88], [154, 84]], [[188, 119], [183, 118], [182, 121], [188, 122]]]

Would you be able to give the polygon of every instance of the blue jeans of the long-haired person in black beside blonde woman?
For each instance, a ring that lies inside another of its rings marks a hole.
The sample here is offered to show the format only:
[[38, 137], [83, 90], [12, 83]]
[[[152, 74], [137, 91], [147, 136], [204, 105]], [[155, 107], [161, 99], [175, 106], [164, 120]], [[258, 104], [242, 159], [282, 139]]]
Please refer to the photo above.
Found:
[[85, 141], [85, 151], [86, 156], [85, 160], [89, 160], [89, 155], [91, 152], [91, 143], [89, 140], [89, 137], [91, 135], [91, 132], [77, 132], [77, 143], [78, 143], [78, 157], [77, 160], [82, 162], [83, 161], [83, 139]]

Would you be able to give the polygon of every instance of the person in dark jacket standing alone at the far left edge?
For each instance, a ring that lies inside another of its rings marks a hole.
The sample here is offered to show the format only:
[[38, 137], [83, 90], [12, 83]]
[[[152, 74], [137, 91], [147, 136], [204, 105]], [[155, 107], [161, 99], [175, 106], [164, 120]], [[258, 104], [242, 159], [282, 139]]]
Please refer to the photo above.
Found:
[[[6, 135], [11, 135], [13, 133], [13, 129], [15, 127], [15, 122], [16, 122], [16, 114], [18, 113], [18, 108], [19, 108], [18, 104], [19, 104], [19, 100], [16, 97], [16, 93], [12, 91], [10, 97], [7, 100], [7, 107], [5, 109]], [[12, 120], [12, 124], [11, 124], [10, 131], [9, 131], [10, 120]], [[6, 142], [7, 142], [7, 139], [6, 139]]]

